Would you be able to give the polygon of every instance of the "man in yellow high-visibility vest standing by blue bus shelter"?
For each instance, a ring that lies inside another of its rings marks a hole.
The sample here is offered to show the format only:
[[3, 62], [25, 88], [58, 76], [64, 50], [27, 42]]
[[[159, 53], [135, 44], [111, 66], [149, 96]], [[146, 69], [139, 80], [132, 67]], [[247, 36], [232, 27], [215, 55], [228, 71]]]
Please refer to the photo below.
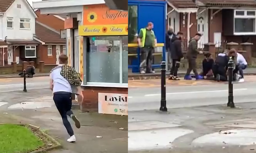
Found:
[[157, 38], [155, 37], [154, 31], [152, 30], [154, 24], [149, 22], [146, 28], [141, 28], [138, 35], [138, 44], [141, 54], [140, 73], [155, 73], [152, 70], [152, 60], [154, 48], [157, 44]]

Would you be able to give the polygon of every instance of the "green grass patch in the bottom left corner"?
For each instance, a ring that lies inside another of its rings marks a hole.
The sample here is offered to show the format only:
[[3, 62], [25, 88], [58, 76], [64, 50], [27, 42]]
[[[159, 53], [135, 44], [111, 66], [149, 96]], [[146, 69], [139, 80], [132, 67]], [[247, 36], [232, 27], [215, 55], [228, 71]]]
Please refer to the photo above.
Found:
[[29, 153], [44, 145], [44, 141], [25, 126], [0, 125], [0, 153]]

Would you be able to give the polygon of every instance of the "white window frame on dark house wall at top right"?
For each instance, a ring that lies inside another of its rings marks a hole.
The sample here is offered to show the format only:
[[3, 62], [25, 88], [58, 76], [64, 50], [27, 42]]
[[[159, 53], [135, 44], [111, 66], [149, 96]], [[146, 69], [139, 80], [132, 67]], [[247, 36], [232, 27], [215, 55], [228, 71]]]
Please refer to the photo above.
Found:
[[[236, 12], [244, 11], [244, 15], [236, 15]], [[247, 15], [247, 12], [255, 12], [255, 15]], [[234, 9], [234, 35], [256, 35], [256, 23], [255, 23], [255, 32], [235, 32], [235, 19], [255, 19], [256, 22], [256, 10], [245, 10], [245, 9]]]

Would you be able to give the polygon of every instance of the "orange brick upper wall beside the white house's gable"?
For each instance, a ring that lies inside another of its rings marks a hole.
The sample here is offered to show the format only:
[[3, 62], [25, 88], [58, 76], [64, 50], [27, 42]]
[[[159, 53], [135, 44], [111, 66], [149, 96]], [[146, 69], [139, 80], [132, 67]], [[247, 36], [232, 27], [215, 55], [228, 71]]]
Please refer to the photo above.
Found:
[[64, 29], [64, 20], [61, 20], [53, 15], [41, 14], [39, 9], [35, 11], [35, 13], [38, 16], [36, 20], [40, 23], [45, 24], [56, 31]]

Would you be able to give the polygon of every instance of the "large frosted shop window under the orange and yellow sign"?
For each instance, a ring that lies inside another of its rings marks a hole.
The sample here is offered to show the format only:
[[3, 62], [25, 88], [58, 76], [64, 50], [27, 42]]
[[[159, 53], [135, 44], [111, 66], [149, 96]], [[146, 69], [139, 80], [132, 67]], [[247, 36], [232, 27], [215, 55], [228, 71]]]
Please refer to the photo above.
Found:
[[86, 84], [126, 86], [128, 83], [127, 36], [95, 36], [87, 43]]

